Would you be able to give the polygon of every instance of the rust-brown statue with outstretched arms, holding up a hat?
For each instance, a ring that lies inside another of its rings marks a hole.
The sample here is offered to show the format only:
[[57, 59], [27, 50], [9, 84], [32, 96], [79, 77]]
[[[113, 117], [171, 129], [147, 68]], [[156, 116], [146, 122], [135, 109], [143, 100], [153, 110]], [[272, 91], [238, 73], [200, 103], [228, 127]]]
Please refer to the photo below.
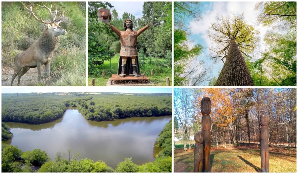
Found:
[[[111, 13], [105, 8], [101, 8], [97, 12], [98, 19], [108, 24], [108, 26], [120, 37], [121, 50], [118, 64], [118, 74], [120, 77], [125, 77], [127, 74], [133, 74], [139, 77], [139, 60], [136, 50], [137, 37], [148, 29], [153, 22], [149, 22], [145, 27], [137, 31], [133, 31], [133, 23], [131, 19], [124, 21], [123, 27], [125, 31], [120, 31], [110, 24]], [[121, 65], [121, 66], [120, 66]]]

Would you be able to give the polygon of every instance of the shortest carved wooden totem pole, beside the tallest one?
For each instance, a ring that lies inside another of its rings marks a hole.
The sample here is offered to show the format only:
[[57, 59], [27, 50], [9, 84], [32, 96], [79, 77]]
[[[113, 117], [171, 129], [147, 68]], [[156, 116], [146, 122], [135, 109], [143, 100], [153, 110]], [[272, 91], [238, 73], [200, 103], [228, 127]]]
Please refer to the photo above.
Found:
[[203, 172], [204, 135], [201, 132], [195, 134], [195, 160], [193, 172]]

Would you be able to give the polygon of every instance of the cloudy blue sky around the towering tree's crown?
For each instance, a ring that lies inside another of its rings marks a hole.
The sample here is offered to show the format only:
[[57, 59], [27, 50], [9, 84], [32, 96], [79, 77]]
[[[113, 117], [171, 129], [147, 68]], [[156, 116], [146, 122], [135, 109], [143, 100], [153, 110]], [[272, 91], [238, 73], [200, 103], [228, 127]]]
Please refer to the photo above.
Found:
[[[256, 2], [201, 2], [200, 10], [202, 12], [201, 21], [192, 21], [188, 20], [186, 26], [190, 28], [189, 40], [194, 41], [193, 44], [190, 44], [192, 47], [195, 44], [201, 44], [204, 47], [204, 51], [201, 55], [197, 56], [197, 61], [204, 61], [205, 64], [212, 66], [213, 77], [218, 78], [219, 72], [224, 66], [222, 61], [214, 63], [213, 60], [208, 59], [210, 55], [209, 47], [213, 44], [212, 40], [206, 35], [207, 30], [211, 26], [212, 22], [215, 22], [215, 17], [218, 15], [228, 16], [231, 13], [239, 16], [244, 13], [244, 19], [249, 25], [252, 25], [255, 29], [260, 30], [260, 50], [264, 50], [266, 44], [264, 43], [264, 35], [270, 27], [263, 27], [262, 24], [256, 24], [256, 18], [260, 13], [257, 10], [254, 10], [254, 5]], [[258, 59], [258, 58], [256, 58]]]

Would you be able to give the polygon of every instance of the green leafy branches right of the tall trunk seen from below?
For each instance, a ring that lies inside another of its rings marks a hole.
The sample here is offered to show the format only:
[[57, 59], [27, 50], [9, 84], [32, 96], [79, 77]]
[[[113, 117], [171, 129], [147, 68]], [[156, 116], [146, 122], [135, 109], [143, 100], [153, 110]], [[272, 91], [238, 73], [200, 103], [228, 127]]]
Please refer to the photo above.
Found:
[[[297, 84], [297, 2], [258, 2], [258, 23], [270, 26], [264, 41], [268, 45], [259, 60], [252, 63], [254, 81], [260, 86]], [[269, 84], [269, 85], [268, 85]]]

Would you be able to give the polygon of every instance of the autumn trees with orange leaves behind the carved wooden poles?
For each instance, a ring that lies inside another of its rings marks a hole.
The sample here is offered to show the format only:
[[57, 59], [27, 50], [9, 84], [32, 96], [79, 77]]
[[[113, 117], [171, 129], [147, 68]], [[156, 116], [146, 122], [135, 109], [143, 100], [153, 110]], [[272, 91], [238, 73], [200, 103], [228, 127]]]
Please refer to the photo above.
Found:
[[181, 88], [174, 90], [174, 133], [191, 145], [201, 131], [201, 99], [211, 99], [211, 143], [259, 143], [259, 118], [269, 116], [269, 145], [296, 147], [296, 88]]

